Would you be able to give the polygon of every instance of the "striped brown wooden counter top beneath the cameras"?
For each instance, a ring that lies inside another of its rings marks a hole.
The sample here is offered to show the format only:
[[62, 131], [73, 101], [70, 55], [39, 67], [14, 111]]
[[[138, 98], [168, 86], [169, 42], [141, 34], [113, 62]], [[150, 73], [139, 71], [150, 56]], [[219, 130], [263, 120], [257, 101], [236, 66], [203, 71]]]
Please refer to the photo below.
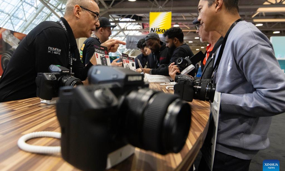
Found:
[[[165, 86], [150, 84], [150, 88], [173, 93]], [[135, 154], [113, 167], [112, 171], [188, 171], [194, 162], [208, 129], [209, 103], [194, 100], [192, 121], [188, 139], [178, 154], [162, 156], [136, 148]], [[61, 158], [61, 154], [42, 155], [22, 151], [17, 146], [18, 139], [35, 131], [60, 132], [55, 105], [40, 103], [38, 98], [0, 103], [0, 170], [78, 170]], [[27, 143], [33, 145], [60, 146], [60, 140], [37, 138]]]

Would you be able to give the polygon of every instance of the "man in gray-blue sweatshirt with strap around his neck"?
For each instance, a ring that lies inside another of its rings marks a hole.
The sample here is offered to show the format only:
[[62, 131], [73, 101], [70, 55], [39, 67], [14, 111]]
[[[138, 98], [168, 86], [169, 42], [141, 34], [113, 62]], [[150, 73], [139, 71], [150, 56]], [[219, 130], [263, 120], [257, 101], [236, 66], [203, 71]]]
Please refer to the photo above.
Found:
[[238, 0], [200, 0], [198, 11], [205, 31], [226, 40], [212, 79], [221, 92], [213, 170], [249, 170], [253, 156], [269, 146], [272, 116], [285, 112], [285, 75], [268, 38], [239, 20]]

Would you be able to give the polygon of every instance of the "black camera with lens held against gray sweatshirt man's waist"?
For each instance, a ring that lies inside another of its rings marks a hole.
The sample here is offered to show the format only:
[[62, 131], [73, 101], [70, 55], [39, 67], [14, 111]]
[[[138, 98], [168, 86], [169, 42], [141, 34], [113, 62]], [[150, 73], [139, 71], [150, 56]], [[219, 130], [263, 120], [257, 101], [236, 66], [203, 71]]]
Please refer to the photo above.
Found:
[[193, 101], [198, 99], [201, 101], [213, 102], [216, 84], [208, 82], [194, 82], [187, 75], [175, 76], [174, 94], [178, 94], [185, 101]]

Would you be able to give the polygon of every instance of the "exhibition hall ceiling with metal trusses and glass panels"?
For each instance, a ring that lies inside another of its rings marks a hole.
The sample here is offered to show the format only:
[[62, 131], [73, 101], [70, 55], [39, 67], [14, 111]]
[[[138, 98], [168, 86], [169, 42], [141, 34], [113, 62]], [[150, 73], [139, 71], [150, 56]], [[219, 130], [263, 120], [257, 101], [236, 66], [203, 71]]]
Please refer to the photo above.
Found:
[[[184, 41], [193, 51], [207, 46], [197, 37], [192, 21], [198, 16], [199, 0], [99, 0], [100, 16], [113, 23], [112, 36], [125, 40], [126, 35], [145, 35], [149, 30], [150, 12], [172, 12], [172, 26], [178, 24]], [[29, 32], [45, 20], [63, 16], [66, 0], [0, 0], [0, 27]], [[258, 28], [268, 37], [285, 34], [285, 0], [240, 0], [239, 11], [245, 21], [262, 24]], [[277, 33], [273, 33], [277, 32]], [[279, 33], [278, 33], [279, 32]], [[122, 46], [121, 48], [125, 48]]]

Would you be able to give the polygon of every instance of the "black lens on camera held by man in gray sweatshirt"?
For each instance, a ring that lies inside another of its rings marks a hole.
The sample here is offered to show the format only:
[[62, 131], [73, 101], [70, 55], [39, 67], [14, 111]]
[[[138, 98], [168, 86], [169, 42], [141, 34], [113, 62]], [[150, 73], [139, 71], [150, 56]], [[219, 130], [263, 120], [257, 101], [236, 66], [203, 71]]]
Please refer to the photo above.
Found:
[[215, 84], [207, 82], [195, 82], [193, 89], [194, 89], [193, 99], [213, 102], [216, 91]]

